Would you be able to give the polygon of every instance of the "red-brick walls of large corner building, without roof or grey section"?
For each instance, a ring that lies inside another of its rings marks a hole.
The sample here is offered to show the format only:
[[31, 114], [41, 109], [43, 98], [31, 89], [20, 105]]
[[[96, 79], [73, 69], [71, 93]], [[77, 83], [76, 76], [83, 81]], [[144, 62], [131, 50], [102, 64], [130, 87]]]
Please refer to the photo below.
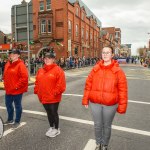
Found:
[[[40, 2], [44, 3], [43, 11], [39, 11]], [[51, 0], [49, 10], [46, 9], [46, 0], [33, 0], [32, 3], [34, 45], [31, 46], [31, 51], [33, 54], [37, 55], [45, 46], [52, 46], [57, 53], [57, 58], [74, 55], [99, 56], [100, 27], [96, 19], [86, 16], [84, 7], [81, 7], [78, 2], [70, 4], [68, 0]], [[41, 32], [42, 20], [46, 20], [44, 33]], [[47, 32], [49, 20], [52, 23], [51, 32]], [[61, 43], [61, 46], [56, 43]]]

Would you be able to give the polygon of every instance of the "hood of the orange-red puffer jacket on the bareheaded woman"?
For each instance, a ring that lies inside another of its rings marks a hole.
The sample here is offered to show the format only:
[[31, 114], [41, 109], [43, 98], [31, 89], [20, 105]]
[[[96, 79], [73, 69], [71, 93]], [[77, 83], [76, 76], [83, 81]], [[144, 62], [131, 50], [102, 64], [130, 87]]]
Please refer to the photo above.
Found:
[[99, 61], [95, 66], [94, 66], [94, 71], [98, 71], [99, 69], [111, 69], [113, 73], [116, 73], [120, 70], [120, 67], [119, 67], [119, 63], [118, 61], [116, 60], [113, 60], [111, 61], [111, 64], [108, 65], [108, 66], [104, 66], [104, 60], [101, 60]]

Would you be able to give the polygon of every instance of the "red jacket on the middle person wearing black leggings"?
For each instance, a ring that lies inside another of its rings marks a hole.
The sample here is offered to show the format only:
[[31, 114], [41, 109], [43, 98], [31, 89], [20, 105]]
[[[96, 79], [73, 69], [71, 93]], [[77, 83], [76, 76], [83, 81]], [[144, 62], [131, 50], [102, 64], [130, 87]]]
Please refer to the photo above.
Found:
[[60, 102], [65, 89], [64, 71], [59, 66], [44, 65], [38, 70], [34, 93], [38, 95], [42, 104]]

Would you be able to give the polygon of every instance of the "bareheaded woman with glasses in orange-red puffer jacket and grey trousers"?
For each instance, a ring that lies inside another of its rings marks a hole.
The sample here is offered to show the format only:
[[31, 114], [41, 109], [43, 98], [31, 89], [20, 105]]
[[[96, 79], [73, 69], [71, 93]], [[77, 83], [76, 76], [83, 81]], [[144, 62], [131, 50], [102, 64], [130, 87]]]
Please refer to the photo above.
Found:
[[102, 60], [93, 67], [86, 80], [82, 99], [82, 105], [91, 107], [97, 144], [95, 150], [108, 149], [114, 116], [116, 112], [124, 114], [127, 109], [126, 76], [112, 57], [113, 48], [104, 47]]

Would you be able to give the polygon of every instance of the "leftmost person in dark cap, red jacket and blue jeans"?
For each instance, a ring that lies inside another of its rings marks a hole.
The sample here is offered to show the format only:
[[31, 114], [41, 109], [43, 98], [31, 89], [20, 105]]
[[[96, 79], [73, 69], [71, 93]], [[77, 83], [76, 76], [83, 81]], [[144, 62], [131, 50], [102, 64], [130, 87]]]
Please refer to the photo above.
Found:
[[[4, 69], [4, 88], [6, 91], [5, 104], [8, 113], [8, 119], [4, 125], [14, 124], [18, 126], [22, 114], [22, 95], [28, 89], [28, 71], [24, 62], [19, 58], [20, 51], [13, 49], [9, 51], [9, 60]], [[16, 118], [14, 122], [14, 107], [16, 109]]]

